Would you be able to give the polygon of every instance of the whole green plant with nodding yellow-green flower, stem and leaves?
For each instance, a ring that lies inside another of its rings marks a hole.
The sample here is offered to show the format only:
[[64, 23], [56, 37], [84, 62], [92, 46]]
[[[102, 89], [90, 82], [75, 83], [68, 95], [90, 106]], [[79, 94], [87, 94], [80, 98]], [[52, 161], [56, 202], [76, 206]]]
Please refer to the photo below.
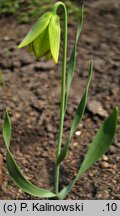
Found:
[[23, 48], [28, 45], [29, 50], [32, 51], [37, 58], [45, 56], [47, 60], [53, 59], [54, 63], [57, 64], [59, 56], [60, 47], [60, 21], [57, 15], [57, 10], [62, 7], [64, 14], [64, 41], [63, 41], [63, 60], [62, 60], [62, 82], [61, 82], [61, 108], [60, 108], [60, 124], [58, 132], [58, 144], [56, 147], [56, 166], [55, 166], [55, 184], [52, 191], [39, 188], [28, 181], [25, 176], [20, 171], [16, 161], [10, 150], [10, 140], [11, 140], [11, 121], [9, 113], [6, 110], [5, 119], [3, 123], [3, 138], [5, 147], [7, 149], [6, 162], [10, 176], [14, 182], [26, 193], [37, 196], [37, 197], [47, 197], [55, 199], [65, 199], [68, 193], [71, 191], [72, 187], [76, 181], [108, 150], [111, 145], [116, 132], [117, 125], [117, 108], [114, 108], [112, 114], [104, 121], [101, 127], [98, 129], [93, 141], [89, 145], [89, 149], [86, 156], [78, 170], [76, 177], [62, 190], [59, 188], [59, 175], [60, 175], [60, 165], [65, 159], [71, 138], [76, 131], [78, 124], [83, 118], [85, 107], [87, 103], [88, 89], [92, 78], [93, 62], [90, 61], [89, 64], [89, 74], [88, 80], [83, 92], [82, 98], [76, 109], [76, 113], [73, 117], [71, 129], [66, 143], [63, 147], [62, 145], [62, 135], [63, 135], [63, 124], [64, 117], [67, 109], [67, 101], [70, 85], [74, 76], [74, 70], [76, 65], [76, 49], [78, 39], [81, 33], [83, 24], [83, 14], [84, 6], [81, 9], [80, 21], [77, 29], [75, 43], [71, 52], [70, 60], [68, 63], [68, 69], [66, 70], [66, 56], [67, 56], [67, 10], [66, 6], [62, 2], [57, 2], [53, 7], [51, 12], [45, 13], [42, 17], [38, 19], [36, 24], [27, 34], [25, 39], [21, 42], [18, 48]]

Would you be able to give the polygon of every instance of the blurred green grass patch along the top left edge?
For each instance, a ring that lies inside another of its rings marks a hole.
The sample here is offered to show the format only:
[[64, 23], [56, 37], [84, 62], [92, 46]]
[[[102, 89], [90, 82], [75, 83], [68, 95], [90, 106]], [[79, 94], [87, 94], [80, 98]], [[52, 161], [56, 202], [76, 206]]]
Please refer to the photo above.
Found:
[[[28, 23], [36, 16], [40, 16], [44, 11], [48, 10], [51, 4], [55, 2], [57, 1], [1, 0], [0, 16], [15, 15], [19, 23]], [[80, 6], [84, 1], [81, 0], [77, 2], [66, 0], [63, 2], [67, 5], [69, 14], [77, 15], [79, 13], [78, 5]]]

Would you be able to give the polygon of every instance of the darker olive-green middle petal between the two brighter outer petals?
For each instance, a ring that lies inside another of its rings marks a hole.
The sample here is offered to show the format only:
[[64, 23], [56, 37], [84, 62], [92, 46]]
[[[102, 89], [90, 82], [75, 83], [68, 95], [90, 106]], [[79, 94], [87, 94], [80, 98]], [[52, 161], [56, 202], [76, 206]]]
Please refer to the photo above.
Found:
[[45, 56], [50, 49], [48, 27], [33, 41], [33, 51], [37, 58]]

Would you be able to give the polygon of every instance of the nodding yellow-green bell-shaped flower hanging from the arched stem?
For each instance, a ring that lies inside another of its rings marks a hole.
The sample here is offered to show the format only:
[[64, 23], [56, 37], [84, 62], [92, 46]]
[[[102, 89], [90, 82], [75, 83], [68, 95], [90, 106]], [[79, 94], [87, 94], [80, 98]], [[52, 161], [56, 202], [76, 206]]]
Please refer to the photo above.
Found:
[[42, 15], [18, 48], [29, 46], [37, 58], [45, 56], [46, 60], [53, 59], [57, 64], [60, 47], [60, 21], [59, 16], [53, 12]]

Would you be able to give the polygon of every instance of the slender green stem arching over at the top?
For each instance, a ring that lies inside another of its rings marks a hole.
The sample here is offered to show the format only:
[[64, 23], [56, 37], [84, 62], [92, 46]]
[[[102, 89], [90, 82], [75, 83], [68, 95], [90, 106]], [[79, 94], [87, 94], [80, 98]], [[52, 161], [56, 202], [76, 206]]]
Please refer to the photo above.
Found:
[[61, 6], [64, 11], [64, 42], [63, 42], [63, 59], [62, 59], [62, 82], [61, 82], [61, 107], [60, 107], [60, 125], [58, 144], [56, 149], [56, 167], [55, 167], [55, 193], [59, 192], [59, 176], [60, 176], [60, 165], [57, 165], [57, 159], [61, 152], [62, 135], [63, 135], [63, 124], [64, 124], [64, 109], [65, 109], [65, 88], [66, 88], [66, 56], [67, 56], [67, 10], [66, 6], [62, 2], [57, 2], [53, 7], [53, 12], [56, 13], [58, 7]]

